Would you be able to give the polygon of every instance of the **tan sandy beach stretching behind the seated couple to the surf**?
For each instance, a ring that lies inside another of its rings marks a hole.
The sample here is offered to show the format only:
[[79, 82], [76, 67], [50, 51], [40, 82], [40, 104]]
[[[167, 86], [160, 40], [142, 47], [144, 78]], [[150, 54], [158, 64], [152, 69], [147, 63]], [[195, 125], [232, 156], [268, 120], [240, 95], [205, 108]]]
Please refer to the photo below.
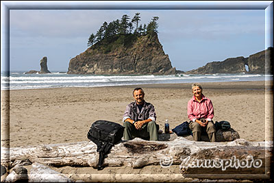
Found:
[[[247, 141], [273, 141], [272, 82], [216, 82], [201, 83], [203, 94], [212, 99], [214, 121], [226, 120]], [[47, 88], [1, 91], [1, 147], [75, 143], [88, 141], [90, 125], [99, 119], [122, 124], [125, 107], [137, 86], [101, 88]], [[152, 103], [157, 114], [156, 123], [164, 130], [169, 120], [171, 129], [188, 121], [187, 102], [192, 97], [191, 84], [151, 84], [140, 86], [145, 100]], [[8, 98], [8, 96], [10, 96]], [[10, 141], [9, 141], [10, 140]], [[151, 173], [161, 170], [150, 166]], [[56, 168], [57, 169], [57, 168]], [[62, 167], [63, 173], [79, 173], [79, 169]], [[73, 169], [73, 170], [71, 170]], [[85, 171], [86, 169], [86, 171]], [[82, 173], [92, 168], [83, 168]], [[106, 168], [100, 173], [111, 173]], [[121, 170], [127, 173], [125, 170]], [[95, 170], [96, 172], [96, 170]], [[72, 173], [72, 174], [73, 174]]]

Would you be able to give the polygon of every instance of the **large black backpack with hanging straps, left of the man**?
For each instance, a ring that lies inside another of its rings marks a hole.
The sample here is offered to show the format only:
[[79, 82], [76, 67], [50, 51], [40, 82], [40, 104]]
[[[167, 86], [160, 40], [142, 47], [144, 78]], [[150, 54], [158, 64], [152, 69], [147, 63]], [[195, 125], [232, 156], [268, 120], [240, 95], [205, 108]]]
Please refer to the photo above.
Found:
[[99, 162], [95, 169], [103, 169], [103, 159], [110, 153], [110, 149], [122, 140], [124, 127], [112, 121], [98, 120], [92, 123], [88, 131], [88, 139], [97, 145]]

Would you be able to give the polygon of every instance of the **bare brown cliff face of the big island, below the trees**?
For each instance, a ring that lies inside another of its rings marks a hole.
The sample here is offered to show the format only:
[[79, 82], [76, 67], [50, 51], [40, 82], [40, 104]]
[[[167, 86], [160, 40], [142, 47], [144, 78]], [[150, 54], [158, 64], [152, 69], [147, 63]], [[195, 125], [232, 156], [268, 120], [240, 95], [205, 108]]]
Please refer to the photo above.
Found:
[[[119, 40], [116, 40], [118, 42]], [[95, 44], [69, 62], [69, 74], [175, 74], [158, 35], [140, 36], [127, 45]]]

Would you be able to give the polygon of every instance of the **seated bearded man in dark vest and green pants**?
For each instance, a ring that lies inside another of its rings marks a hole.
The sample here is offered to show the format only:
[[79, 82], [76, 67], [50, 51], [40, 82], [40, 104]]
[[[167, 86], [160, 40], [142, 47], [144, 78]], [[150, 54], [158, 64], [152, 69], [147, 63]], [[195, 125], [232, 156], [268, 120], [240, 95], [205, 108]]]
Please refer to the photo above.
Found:
[[133, 90], [134, 102], [129, 103], [123, 115], [124, 140], [129, 141], [140, 137], [149, 141], [158, 141], [158, 125], [154, 106], [144, 99], [142, 88]]

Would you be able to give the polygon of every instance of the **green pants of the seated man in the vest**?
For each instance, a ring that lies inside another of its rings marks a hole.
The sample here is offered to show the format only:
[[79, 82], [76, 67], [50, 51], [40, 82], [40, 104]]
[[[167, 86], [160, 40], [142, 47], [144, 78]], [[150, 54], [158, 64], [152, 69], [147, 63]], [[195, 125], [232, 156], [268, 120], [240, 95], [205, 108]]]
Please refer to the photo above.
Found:
[[124, 130], [124, 140], [129, 141], [135, 137], [143, 138], [149, 141], [158, 141], [158, 127], [155, 121], [150, 121], [149, 123], [145, 123], [142, 125], [140, 130], [137, 130], [136, 127], [125, 121], [123, 123], [125, 130]]

